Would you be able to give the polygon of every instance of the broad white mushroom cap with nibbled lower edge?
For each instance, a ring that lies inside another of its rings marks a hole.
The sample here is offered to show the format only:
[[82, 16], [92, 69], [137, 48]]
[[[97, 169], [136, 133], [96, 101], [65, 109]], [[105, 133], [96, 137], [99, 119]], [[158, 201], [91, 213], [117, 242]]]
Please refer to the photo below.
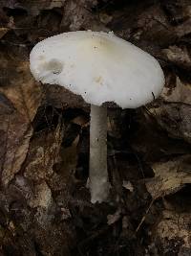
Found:
[[59, 84], [92, 105], [135, 108], [157, 98], [164, 75], [156, 58], [113, 33], [77, 31], [37, 43], [32, 75]]

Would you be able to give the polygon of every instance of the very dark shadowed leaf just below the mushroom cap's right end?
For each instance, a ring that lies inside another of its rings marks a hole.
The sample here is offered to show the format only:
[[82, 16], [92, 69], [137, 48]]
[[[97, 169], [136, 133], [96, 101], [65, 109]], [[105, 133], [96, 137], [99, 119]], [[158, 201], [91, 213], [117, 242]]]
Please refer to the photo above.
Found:
[[[161, 130], [159, 125], [160, 115], [153, 115], [152, 110], [147, 108], [142, 110], [142, 116], [138, 120], [138, 130], [131, 136], [131, 145], [144, 161], [158, 162], [163, 157], [190, 153], [186, 142], [174, 140], [168, 136], [167, 132]], [[166, 122], [165, 126], [170, 128], [170, 124], [170, 121]]]

